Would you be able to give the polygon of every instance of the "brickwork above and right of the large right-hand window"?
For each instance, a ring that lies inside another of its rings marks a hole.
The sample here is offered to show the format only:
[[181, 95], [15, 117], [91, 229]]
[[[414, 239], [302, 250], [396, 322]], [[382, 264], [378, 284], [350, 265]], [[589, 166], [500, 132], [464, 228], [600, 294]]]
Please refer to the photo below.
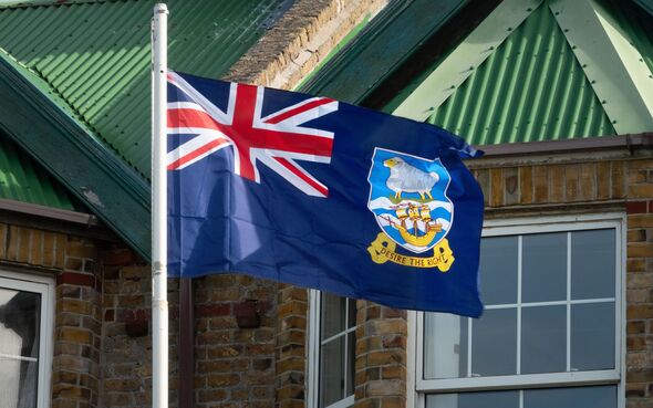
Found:
[[653, 407], [653, 159], [478, 167], [490, 218], [626, 215], [626, 406]]

